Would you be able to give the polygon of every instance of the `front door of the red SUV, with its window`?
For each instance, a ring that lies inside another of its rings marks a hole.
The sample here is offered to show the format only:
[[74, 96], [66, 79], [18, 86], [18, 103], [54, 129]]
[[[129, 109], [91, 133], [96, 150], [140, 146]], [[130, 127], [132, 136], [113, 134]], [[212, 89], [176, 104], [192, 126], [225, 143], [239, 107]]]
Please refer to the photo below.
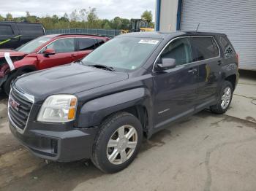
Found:
[[[55, 55], [44, 55], [46, 49], [55, 50]], [[37, 55], [39, 69], [48, 69], [53, 66], [59, 66], [77, 60], [77, 52], [75, 52], [75, 39], [63, 38], [51, 42], [43, 48]]]

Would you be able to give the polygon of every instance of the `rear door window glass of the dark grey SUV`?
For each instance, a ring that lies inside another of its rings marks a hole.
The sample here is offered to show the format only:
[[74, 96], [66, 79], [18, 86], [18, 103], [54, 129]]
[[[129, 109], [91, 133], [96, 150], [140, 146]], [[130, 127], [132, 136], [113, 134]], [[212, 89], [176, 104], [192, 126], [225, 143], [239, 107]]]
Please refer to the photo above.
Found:
[[193, 37], [192, 38], [193, 61], [203, 61], [219, 55], [216, 42], [212, 37]]

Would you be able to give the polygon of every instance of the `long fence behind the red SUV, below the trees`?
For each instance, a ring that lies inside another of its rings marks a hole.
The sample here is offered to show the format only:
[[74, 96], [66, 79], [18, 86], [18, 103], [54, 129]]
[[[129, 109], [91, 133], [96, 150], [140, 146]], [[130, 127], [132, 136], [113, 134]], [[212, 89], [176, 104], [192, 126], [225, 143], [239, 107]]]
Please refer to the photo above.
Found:
[[64, 28], [64, 29], [54, 29], [45, 30], [46, 34], [95, 34], [101, 36], [108, 36], [113, 38], [121, 34], [118, 30], [105, 30], [105, 29], [92, 29], [92, 28]]

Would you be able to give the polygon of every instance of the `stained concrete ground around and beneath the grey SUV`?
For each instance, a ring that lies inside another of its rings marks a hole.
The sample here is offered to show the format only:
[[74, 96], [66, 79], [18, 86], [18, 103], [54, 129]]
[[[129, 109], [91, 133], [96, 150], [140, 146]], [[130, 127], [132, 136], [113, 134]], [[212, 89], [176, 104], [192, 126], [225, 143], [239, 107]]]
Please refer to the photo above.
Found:
[[118, 174], [86, 160], [49, 163], [14, 139], [0, 94], [0, 190], [256, 190], [256, 72], [241, 79], [226, 114], [200, 112], [144, 140]]

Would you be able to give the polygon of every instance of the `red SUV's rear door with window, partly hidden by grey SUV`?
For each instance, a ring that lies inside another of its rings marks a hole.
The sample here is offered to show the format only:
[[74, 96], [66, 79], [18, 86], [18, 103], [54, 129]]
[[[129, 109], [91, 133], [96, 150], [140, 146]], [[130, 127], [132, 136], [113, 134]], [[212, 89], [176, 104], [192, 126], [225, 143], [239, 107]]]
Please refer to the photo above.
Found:
[[75, 38], [77, 41], [78, 52], [77, 58], [80, 60], [81, 58], [89, 55], [89, 53], [94, 50], [96, 45], [98, 44], [97, 39], [90, 38]]

